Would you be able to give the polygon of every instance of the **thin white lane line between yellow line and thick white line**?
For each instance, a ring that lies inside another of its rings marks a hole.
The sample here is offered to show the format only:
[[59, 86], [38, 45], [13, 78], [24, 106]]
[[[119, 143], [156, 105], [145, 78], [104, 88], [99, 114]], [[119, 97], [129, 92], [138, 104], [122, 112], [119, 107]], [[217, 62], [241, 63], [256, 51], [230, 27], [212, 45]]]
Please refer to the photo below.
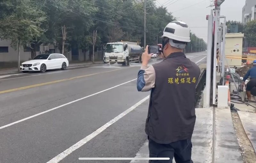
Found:
[[30, 117], [27, 117], [27, 118], [24, 118], [24, 119], [18, 120], [18, 121], [16, 121], [16, 122], [12, 122], [12, 123], [10, 123], [10, 124], [6, 124], [6, 125], [4, 125], [4, 126], [0, 127], [0, 130], [1, 130], [1, 129], [4, 129], [4, 128], [6, 128], [6, 127], [12, 126], [12, 125], [14, 125], [14, 124], [17, 124], [17, 123], [20, 123], [20, 122], [26, 121], [26, 120], [28, 120], [28, 119], [31, 119], [31, 118], [34, 118], [34, 117], [40, 116], [40, 115], [42, 115], [42, 114], [44, 114], [44, 113], [47, 113], [47, 112], [50, 112], [50, 111], [52, 111], [52, 110], [59, 109], [59, 108], [61, 108], [61, 107], [63, 107], [63, 106], [69, 105], [69, 104], [71, 104], [71, 103], [75, 103], [75, 102], [77, 102], [77, 101], [84, 100], [84, 99], [86, 99], [86, 98], [88, 98], [88, 97], [91, 97], [91, 96], [94, 96], [94, 95], [100, 94], [100, 93], [102, 93], [102, 92], [106, 92], [106, 91], [108, 91], [108, 90], [110, 90], [110, 89], [113, 89], [113, 88], [119, 87], [119, 86], [121, 86], [121, 85], [124, 85], [124, 84], [129, 83], [129, 82], [134, 81], [134, 80], [137, 80], [137, 79], [133, 79], [133, 80], [130, 80], [130, 81], [124, 82], [124, 83], [119, 84], [119, 85], [116, 85], [116, 86], [114, 86], [114, 87], [111, 87], [111, 88], [108, 88], [108, 89], [102, 90], [102, 91], [100, 91], [100, 92], [97, 92], [97, 93], [91, 94], [91, 95], [89, 95], [89, 96], [85, 96], [85, 97], [79, 98], [79, 99], [74, 100], [74, 101], [71, 101], [71, 102], [69, 102], [69, 103], [65, 103], [65, 104], [63, 104], [63, 105], [57, 106], [57, 107], [55, 107], [55, 108], [52, 108], [52, 109], [49, 109], [49, 110], [46, 110], [46, 111], [43, 111], [43, 112], [38, 113], [38, 114], [35, 114], [35, 115], [33, 115], [33, 116], [30, 116]]

